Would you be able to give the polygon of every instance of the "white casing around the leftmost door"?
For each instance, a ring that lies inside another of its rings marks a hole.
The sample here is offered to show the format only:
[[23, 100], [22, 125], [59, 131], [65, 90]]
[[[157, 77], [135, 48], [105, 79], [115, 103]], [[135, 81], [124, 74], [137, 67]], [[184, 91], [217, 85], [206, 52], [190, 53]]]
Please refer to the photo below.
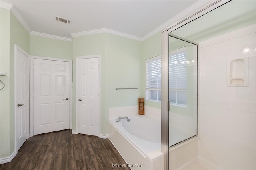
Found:
[[[16, 64], [17, 64], [17, 50], [21, 51], [22, 53], [24, 53], [24, 55], [26, 55], [28, 57], [28, 89], [29, 89], [29, 84], [30, 84], [30, 55], [28, 53], [26, 53], [26, 51], [24, 51], [23, 49], [21, 49], [18, 45], [14, 44], [14, 124], [15, 124], [15, 129], [14, 129], [14, 137], [15, 137], [15, 155], [18, 153], [18, 138], [17, 138], [17, 107], [16, 107], [16, 104], [17, 104], [17, 99], [16, 99], [16, 96], [17, 96], [17, 93], [16, 93], [16, 90], [17, 90], [17, 86], [16, 86], [16, 78], [17, 78], [17, 74], [16, 74]], [[29, 125], [29, 114], [30, 114], [30, 92], [28, 92], [28, 113], [27, 113], [27, 139], [29, 138], [29, 129], [30, 129], [30, 125]]]

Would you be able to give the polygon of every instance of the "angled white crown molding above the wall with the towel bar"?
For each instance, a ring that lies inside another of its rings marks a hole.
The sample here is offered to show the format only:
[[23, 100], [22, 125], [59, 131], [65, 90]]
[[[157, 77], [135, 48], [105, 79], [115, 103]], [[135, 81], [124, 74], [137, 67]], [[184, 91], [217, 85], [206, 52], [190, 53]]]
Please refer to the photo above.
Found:
[[79, 36], [91, 35], [91, 34], [96, 34], [96, 33], [110, 33], [110, 34], [118, 35], [118, 36], [121, 36], [121, 37], [134, 39], [134, 40], [137, 40], [137, 41], [143, 41], [141, 37], [137, 37], [135, 35], [122, 33], [122, 32], [119, 32], [119, 31], [112, 30], [112, 29], [108, 29], [108, 28], [101, 28], [101, 29], [94, 29], [94, 30], [90, 30], [90, 31], [82, 31], [82, 32], [78, 32], [78, 33], [72, 33], [71, 36], [72, 37], [79, 37]]

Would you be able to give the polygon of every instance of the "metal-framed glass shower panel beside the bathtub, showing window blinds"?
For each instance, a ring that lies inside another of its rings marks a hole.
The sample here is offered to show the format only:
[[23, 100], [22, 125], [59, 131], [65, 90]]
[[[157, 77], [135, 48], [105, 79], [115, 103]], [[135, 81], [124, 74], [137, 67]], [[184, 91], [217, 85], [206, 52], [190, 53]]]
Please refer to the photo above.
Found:
[[198, 44], [169, 33], [169, 147], [198, 135]]

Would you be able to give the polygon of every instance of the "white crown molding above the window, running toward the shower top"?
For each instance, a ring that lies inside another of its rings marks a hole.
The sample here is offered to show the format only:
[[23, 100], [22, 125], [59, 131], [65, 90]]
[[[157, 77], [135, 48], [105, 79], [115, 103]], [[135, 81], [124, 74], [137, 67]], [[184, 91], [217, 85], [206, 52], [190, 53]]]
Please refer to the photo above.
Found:
[[152, 35], [154, 35], [156, 33], [162, 32], [163, 29], [170, 27], [170, 25], [172, 25], [178, 21], [181, 21], [182, 18], [184, 18], [186, 16], [190, 16], [191, 13], [195, 13], [196, 10], [198, 10], [200, 7], [204, 6], [208, 2], [209, 1], [207, 1], [207, 0], [199, 0], [198, 2], [194, 3], [192, 6], [186, 8], [185, 10], [180, 12], [178, 15], [174, 16], [172, 19], [168, 20], [166, 23], [160, 25], [159, 27], [157, 27], [156, 29], [154, 29], [153, 31], [151, 31], [150, 33], [148, 33], [147, 35], [142, 37], [142, 41], [145, 41], [146, 39], [148, 39], [149, 37], [151, 37]]

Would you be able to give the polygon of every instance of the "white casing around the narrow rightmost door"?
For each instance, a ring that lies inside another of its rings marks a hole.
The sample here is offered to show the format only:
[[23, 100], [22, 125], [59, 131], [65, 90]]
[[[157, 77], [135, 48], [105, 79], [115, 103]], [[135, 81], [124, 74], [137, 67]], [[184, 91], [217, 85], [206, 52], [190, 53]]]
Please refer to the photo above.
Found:
[[98, 125], [98, 137], [100, 137], [100, 113], [101, 113], [101, 107], [100, 107], [100, 94], [101, 94], [101, 89], [100, 89], [100, 55], [86, 55], [86, 56], [78, 56], [76, 57], [76, 130], [75, 131], [72, 131], [72, 133], [74, 134], [78, 134], [78, 90], [77, 90], [77, 84], [78, 84], [78, 81], [77, 81], [77, 74], [78, 74], [78, 67], [77, 67], [77, 64], [78, 64], [78, 60], [79, 59], [90, 59], [90, 58], [98, 58], [98, 64], [99, 64], [99, 84], [98, 84], [98, 88], [99, 88], [99, 97], [98, 97], [98, 103], [99, 103], [99, 113], [98, 113], [98, 122], [99, 122], [99, 125]]

